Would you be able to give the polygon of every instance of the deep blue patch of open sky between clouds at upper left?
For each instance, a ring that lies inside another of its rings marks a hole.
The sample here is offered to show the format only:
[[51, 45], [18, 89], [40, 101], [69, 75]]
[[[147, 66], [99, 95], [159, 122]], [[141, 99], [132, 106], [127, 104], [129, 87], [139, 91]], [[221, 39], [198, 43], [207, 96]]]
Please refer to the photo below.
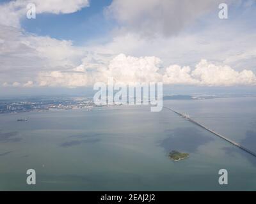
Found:
[[109, 4], [111, 0], [93, 0], [90, 6], [75, 13], [42, 13], [33, 20], [23, 18], [21, 25], [30, 33], [72, 40], [74, 45], [83, 45], [86, 41], [106, 38], [113, 29], [114, 22], [104, 17], [104, 9]]

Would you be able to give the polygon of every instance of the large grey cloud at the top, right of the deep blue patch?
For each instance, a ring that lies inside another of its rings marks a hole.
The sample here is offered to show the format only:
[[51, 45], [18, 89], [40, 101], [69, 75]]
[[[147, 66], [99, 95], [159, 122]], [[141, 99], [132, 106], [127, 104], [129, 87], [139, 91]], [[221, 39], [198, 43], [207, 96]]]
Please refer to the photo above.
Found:
[[220, 3], [223, 1], [113, 0], [106, 13], [129, 31], [147, 36], [171, 36], [205, 13], [218, 11]]

